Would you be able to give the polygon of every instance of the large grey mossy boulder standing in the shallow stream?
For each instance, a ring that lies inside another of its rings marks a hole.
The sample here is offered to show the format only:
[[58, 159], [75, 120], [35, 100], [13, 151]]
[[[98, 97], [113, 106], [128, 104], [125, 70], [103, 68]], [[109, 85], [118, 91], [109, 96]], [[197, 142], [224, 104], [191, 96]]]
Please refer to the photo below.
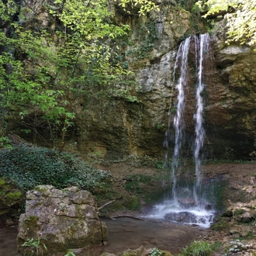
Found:
[[[26, 213], [19, 218], [19, 252], [32, 254], [40, 248], [40, 253], [53, 254], [106, 244], [107, 240], [106, 224], [99, 221], [90, 192], [40, 185], [26, 193]], [[37, 243], [36, 248], [33, 243]]]

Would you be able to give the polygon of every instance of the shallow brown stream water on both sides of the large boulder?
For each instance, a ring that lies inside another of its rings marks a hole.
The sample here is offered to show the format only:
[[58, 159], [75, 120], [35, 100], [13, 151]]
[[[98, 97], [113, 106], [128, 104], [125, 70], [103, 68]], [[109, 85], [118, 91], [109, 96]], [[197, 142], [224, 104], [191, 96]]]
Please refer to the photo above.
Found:
[[[95, 256], [103, 252], [118, 254], [129, 248], [137, 249], [140, 245], [146, 248], [157, 247], [171, 251], [172, 254], [178, 254], [185, 245], [193, 240], [201, 240], [209, 234], [208, 229], [178, 223], [133, 220], [126, 217], [116, 220], [101, 218], [101, 220], [106, 222], [108, 227], [109, 243], [99, 250], [88, 251], [89, 254], [93, 253]], [[1, 256], [19, 255], [16, 252], [17, 233], [17, 226], [0, 229]]]

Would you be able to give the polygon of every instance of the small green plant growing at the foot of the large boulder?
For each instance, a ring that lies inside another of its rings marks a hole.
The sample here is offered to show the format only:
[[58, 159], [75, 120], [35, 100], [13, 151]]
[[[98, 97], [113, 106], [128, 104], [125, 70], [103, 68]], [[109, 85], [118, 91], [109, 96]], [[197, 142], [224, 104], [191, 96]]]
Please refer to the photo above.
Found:
[[42, 244], [40, 242], [40, 238], [36, 239], [27, 239], [23, 244], [22, 247], [24, 247], [23, 255], [43, 255], [43, 251], [47, 251], [47, 247], [45, 244]]

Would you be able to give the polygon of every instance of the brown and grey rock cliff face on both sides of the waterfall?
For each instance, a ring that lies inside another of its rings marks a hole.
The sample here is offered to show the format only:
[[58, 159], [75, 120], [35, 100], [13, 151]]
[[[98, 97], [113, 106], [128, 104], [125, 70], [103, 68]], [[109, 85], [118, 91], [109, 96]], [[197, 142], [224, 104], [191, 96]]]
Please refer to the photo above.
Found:
[[[126, 154], [162, 157], [168, 123], [170, 133], [174, 133], [173, 116], [169, 119], [168, 112], [170, 108], [175, 110], [177, 98], [173, 82], [175, 58], [179, 43], [193, 33], [192, 15], [174, 5], [161, 5], [161, 12], [140, 17], [128, 15], [114, 5], [111, 8], [117, 23], [131, 27], [126, 40], [119, 42], [119, 58], [123, 67], [134, 72], [135, 83], [118, 85], [116, 92], [125, 92], [123, 95], [113, 92], [109, 98], [95, 92], [89, 101], [81, 96], [74, 135], [64, 149], [100, 154], [106, 159]], [[54, 29], [49, 13], [39, 13], [38, 24]], [[249, 157], [256, 138], [256, 52], [247, 46], [227, 45], [225, 40], [220, 26], [211, 36], [203, 62], [204, 155], [239, 159]], [[195, 137], [193, 49], [192, 45], [185, 88], [185, 135], [191, 138]]]

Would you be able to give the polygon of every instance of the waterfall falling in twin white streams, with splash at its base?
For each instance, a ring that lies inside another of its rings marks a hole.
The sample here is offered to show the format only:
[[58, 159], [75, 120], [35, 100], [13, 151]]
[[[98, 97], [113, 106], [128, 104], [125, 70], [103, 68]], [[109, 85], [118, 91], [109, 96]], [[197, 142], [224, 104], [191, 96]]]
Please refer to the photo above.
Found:
[[[148, 215], [150, 218], [164, 218], [164, 220], [168, 221], [195, 223], [202, 227], [209, 227], [213, 220], [214, 211], [202, 192], [201, 175], [202, 147], [205, 137], [202, 92], [206, 87], [203, 82], [203, 65], [208, 47], [209, 35], [203, 34], [199, 37], [189, 36], [178, 48], [173, 71], [173, 87], [168, 112], [168, 130], [165, 133], [164, 139], [164, 147], [166, 147], [164, 167], [168, 167], [168, 163], [171, 161], [171, 198], [154, 206], [153, 211]], [[192, 56], [190, 53], [195, 55], [194, 60], [189, 60], [189, 57]], [[193, 137], [194, 142], [191, 152], [191, 158], [195, 161], [195, 180], [186, 183], [177, 177], [180, 175], [180, 169], [182, 169], [181, 162], [184, 157], [182, 149], [189, 148], [189, 141], [185, 136], [187, 124], [185, 123], [184, 115], [187, 108], [185, 106], [186, 93], [189, 91], [188, 88], [190, 90], [192, 88], [192, 85], [187, 84], [188, 76], [191, 75], [192, 70], [189, 65], [192, 62], [195, 62], [193, 65], [195, 67], [195, 74], [193, 75], [196, 81], [194, 95], [195, 113], [192, 116], [192, 123], [195, 125], [195, 137]], [[175, 104], [172, 103], [174, 91], [177, 94], [177, 98], [174, 101]], [[173, 126], [171, 123], [173, 123]], [[171, 145], [173, 148], [172, 157], [170, 157]]]

